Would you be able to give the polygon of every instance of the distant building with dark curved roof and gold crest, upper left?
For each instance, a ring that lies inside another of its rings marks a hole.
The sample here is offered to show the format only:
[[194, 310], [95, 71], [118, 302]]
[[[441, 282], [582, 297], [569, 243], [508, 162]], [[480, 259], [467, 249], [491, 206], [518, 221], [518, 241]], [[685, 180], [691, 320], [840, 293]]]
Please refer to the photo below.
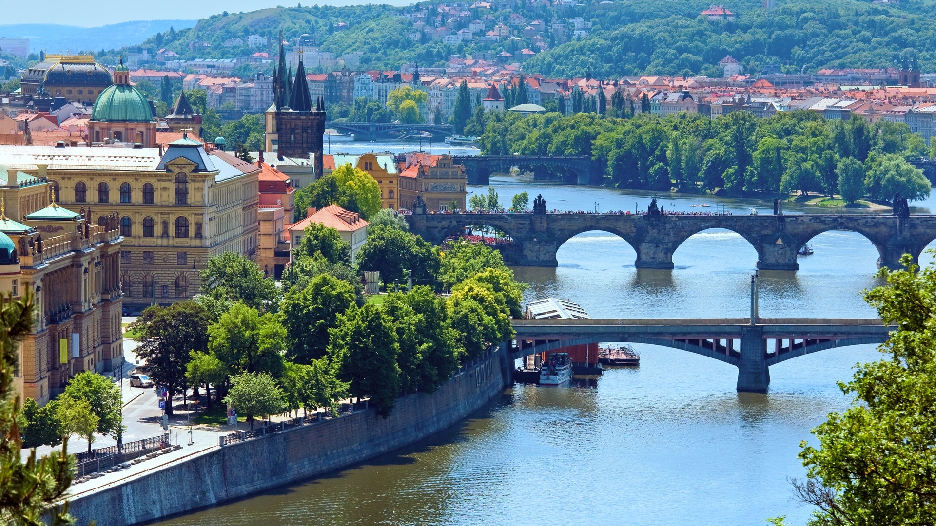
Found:
[[95, 55], [46, 55], [22, 74], [22, 95], [63, 96], [68, 102], [97, 100], [112, 82], [110, 71], [95, 63]]

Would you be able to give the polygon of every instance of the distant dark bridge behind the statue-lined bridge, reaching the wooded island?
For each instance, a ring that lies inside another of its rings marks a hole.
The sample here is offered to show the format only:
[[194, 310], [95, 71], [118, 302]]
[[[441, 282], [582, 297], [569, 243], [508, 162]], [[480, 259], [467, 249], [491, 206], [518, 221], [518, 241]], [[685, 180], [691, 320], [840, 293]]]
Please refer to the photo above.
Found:
[[548, 177], [548, 170], [562, 172], [565, 183], [600, 184], [601, 167], [588, 155], [454, 155], [455, 164], [465, 167], [469, 184], [488, 184], [490, 174], [507, 173], [512, 167], [534, 172], [534, 179]]

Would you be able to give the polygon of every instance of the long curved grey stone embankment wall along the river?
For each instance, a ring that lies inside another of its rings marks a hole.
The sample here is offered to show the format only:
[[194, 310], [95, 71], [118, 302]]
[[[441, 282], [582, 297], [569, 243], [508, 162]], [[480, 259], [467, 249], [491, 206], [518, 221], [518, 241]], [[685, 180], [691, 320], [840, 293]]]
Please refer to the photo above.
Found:
[[397, 401], [388, 418], [373, 409], [216, 447], [190, 460], [77, 495], [79, 524], [138, 524], [241, 499], [372, 459], [471, 415], [509, 380], [505, 351], [490, 353], [431, 394]]

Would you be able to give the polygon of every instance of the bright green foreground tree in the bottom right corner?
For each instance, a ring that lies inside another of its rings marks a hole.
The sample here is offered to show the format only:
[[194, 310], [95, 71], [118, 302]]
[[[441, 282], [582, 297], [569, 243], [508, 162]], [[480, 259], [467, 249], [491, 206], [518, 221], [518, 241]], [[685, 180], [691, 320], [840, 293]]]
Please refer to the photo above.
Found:
[[882, 359], [860, 364], [840, 382], [854, 396], [843, 414], [812, 430], [816, 446], [801, 443], [807, 479], [794, 482], [797, 498], [818, 509], [813, 526], [929, 524], [936, 517], [936, 270], [881, 270], [887, 285], [865, 293], [885, 325], [897, 329]]

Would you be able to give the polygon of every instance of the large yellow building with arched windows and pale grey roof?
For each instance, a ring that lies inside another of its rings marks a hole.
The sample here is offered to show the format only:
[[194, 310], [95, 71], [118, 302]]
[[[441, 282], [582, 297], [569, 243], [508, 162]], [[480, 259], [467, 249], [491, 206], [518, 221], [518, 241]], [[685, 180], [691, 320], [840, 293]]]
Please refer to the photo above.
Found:
[[254, 256], [255, 164], [183, 138], [156, 148], [0, 146], [0, 165], [48, 178], [56, 200], [92, 222], [116, 214], [124, 304], [192, 298], [197, 271], [225, 252]]

